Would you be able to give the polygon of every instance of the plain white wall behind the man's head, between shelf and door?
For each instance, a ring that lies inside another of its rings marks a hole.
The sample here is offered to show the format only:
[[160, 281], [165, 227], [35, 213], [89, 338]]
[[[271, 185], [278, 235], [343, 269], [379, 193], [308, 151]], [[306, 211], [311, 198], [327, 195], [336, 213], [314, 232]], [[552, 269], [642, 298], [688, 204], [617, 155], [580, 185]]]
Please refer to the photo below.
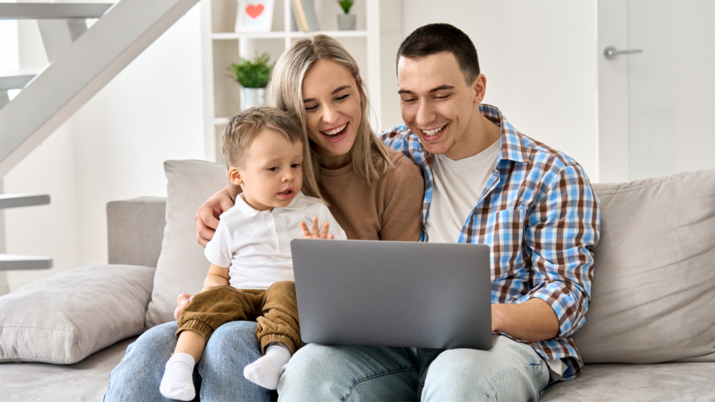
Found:
[[465, 31], [487, 77], [484, 102], [598, 181], [596, 0], [410, 0], [403, 9], [405, 36], [435, 22]]

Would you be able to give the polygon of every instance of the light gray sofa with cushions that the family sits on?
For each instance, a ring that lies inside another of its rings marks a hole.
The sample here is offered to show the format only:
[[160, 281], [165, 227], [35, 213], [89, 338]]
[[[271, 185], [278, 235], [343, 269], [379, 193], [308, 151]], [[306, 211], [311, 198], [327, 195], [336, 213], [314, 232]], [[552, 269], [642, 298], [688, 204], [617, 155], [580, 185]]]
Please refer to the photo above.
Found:
[[[109, 264], [51, 275], [0, 297], [0, 401], [99, 401], [109, 373], [207, 270], [198, 205], [221, 165], [167, 161], [167, 198], [107, 204]], [[581, 376], [542, 401], [715, 399], [715, 170], [593, 185], [601, 240]]]

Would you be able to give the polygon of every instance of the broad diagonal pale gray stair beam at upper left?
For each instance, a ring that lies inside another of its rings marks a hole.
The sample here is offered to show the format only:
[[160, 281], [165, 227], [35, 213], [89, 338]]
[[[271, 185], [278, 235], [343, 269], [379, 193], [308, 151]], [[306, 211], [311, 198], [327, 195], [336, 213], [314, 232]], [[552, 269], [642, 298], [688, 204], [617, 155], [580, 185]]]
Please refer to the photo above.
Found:
[[[0, 177], [29, 155], [197, 1], [119, 1], [92, 29], [56, 55], [12, 102], [0, 109]], [[17, 6], [26, 4], [0, 4], [0, 18], [8, 18], [4, 14], [11, 11], [16, 13]], [[26, 17], [33, 16], [28, 12]], [[70, 17], [67, 13], [55, 18]]]

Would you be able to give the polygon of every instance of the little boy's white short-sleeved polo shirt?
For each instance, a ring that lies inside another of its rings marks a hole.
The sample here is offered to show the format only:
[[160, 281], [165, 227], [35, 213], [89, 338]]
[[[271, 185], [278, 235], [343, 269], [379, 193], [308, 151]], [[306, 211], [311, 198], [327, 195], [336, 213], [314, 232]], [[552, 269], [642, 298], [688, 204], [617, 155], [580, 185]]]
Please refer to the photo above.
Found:
[[272, 211], [254, 210], [242, 197], [221, 214], [204, 255], [210, 263], [229, 268], [229, 284], [237, 289], [267, 289], [280, 280], [294, 280], [290, 240], [302, 239], [300, 222], [312, 228], [328, 222], [337, 240], [347, 236], [327, 206], [298, 192], [290, 205]]

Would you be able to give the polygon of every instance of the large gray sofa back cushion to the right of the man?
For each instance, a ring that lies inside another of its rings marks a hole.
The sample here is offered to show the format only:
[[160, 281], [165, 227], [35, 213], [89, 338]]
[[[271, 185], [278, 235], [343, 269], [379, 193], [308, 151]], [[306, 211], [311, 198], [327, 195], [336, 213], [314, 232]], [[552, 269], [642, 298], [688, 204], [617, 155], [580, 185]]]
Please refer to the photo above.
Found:
[[586, 363], [715, 361], [715, 170], [594, 185], [601, 206]]

